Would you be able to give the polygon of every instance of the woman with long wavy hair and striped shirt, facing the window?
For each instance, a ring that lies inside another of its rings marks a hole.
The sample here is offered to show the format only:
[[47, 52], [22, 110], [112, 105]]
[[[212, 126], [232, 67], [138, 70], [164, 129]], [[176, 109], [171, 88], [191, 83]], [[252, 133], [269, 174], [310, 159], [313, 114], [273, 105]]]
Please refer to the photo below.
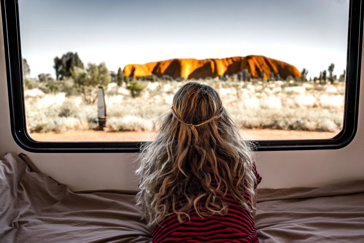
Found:
[[210, 86], [191, 82], [173, 98], [145, 145], [137, 195], [153, 242], [258, 242], [250, 144]]

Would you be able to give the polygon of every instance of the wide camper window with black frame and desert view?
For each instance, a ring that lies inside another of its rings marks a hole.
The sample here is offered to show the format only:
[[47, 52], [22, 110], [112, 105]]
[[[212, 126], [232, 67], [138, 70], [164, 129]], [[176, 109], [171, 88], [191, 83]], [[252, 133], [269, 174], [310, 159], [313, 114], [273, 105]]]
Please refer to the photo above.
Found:
[[260, 150], [340, 148], [356, 130], [361, 8], [3, 0], [13, 136], [37, 152], [137, 151], [196, 81]]

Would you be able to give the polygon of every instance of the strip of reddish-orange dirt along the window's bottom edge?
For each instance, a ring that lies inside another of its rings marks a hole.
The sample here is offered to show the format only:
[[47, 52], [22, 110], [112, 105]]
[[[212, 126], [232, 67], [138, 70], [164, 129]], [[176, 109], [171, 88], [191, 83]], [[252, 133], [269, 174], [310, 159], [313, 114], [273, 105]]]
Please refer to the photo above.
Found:
[[[245, 129], [242, 130], [249, 140], [291, 140], [291, 139], [325, 139], [332, 138], [337, 133], [307, 132], [293, 130], [272, 129]], [[112, 141], [151, 141], [154, 132], [103, 132], [103, 131], [70, 131], [65, 133], [31, 133], [31, 138], [36, 141], [53, 142], [112, 142]]]

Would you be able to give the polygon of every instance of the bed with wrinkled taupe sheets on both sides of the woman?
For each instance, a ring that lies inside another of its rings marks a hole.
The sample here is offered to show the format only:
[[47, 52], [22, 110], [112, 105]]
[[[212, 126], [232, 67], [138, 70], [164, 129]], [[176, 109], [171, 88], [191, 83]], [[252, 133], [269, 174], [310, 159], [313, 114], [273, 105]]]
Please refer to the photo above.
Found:
[[[364, 242], [364, 180], [258, 190], [260, 242]], [[72, 192], [26, 156], [0, 159], [0, 242], [151, 242], [135, 192]]]

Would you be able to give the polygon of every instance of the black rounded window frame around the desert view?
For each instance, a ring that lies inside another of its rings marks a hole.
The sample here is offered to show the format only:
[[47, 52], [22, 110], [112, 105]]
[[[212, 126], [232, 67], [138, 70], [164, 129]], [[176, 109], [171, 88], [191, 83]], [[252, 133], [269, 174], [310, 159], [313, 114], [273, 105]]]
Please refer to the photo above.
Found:
[[[36, 153], [102, 153], [140, 151], [143, 142], [41, 142], [26, 128], [21, 64], [19, 9], [17, 0], [1, 0], [11, 133], [16, 143]], [[361, 49], [363, 38], [362, 0], [349, 2], [347, 72], [343, 129], [331, 139], [255, 141], [257, 151], [339, 149], [348, 145], [357, 130]]]

